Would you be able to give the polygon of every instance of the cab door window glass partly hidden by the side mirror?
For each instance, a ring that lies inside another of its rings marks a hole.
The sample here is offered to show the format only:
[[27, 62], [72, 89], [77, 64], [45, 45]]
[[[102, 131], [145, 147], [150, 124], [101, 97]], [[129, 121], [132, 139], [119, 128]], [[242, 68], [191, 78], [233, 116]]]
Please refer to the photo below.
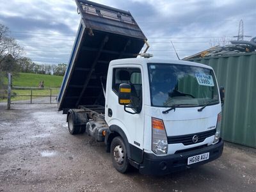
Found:
[[131, 85], [131, 104], [134, 111], [140, 112], [142, 107], [142, 80], [140, 68], [114, 68], [112, 90], [118, 94], [121, 83]]

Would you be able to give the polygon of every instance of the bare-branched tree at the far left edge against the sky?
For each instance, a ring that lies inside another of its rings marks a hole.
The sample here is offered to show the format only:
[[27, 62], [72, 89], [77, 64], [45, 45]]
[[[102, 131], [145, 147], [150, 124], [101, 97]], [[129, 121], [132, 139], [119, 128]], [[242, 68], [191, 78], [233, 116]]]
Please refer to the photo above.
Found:
[[[20, 58], [23, 49], [17, 44], [14, 38], [8, 36], [10, 33], [9, 29], [0, 24], [0, 71], [12, 72], [17, 70], [17, 60]], [[12, 66], [10, 66], [12, 61]]]

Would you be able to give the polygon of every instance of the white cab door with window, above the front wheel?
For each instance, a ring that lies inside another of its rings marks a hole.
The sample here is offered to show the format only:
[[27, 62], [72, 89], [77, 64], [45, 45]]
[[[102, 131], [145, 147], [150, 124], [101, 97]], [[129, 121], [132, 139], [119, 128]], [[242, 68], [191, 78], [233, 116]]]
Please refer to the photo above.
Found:
[[[106, 97], [106, 122], [109, 126], [118, 125], [124, 132], [131, 147], [143, 149], [144, 113], [143, 113], [143, 83], [140, 65], [113, 65], [111, 82], [108, 79]], [[118, 104], [118, 91], [121, 83], [131, 85], [131, 104], [124, 110]], [[111, 111], [109, 114], [108, 112]]]

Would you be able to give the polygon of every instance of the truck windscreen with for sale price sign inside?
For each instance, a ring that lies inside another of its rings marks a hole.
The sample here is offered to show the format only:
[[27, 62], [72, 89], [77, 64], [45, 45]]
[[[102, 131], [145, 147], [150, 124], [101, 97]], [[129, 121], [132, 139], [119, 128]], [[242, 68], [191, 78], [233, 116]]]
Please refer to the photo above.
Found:
[[196, 107], [220, 103], [214, 72], [191, 65], [148, 63], [151, 105]]

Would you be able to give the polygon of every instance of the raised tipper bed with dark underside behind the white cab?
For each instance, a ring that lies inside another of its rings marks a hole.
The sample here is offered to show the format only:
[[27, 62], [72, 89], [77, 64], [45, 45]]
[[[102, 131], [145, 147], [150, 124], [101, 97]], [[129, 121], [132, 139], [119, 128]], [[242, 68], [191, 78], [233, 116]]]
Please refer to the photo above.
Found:
[[103, 105], [111, 60], [136, 58], [147, 38], [130, 12], [86, 0], [76, 0], [81, 23], [60, 94], [58, 109]]

